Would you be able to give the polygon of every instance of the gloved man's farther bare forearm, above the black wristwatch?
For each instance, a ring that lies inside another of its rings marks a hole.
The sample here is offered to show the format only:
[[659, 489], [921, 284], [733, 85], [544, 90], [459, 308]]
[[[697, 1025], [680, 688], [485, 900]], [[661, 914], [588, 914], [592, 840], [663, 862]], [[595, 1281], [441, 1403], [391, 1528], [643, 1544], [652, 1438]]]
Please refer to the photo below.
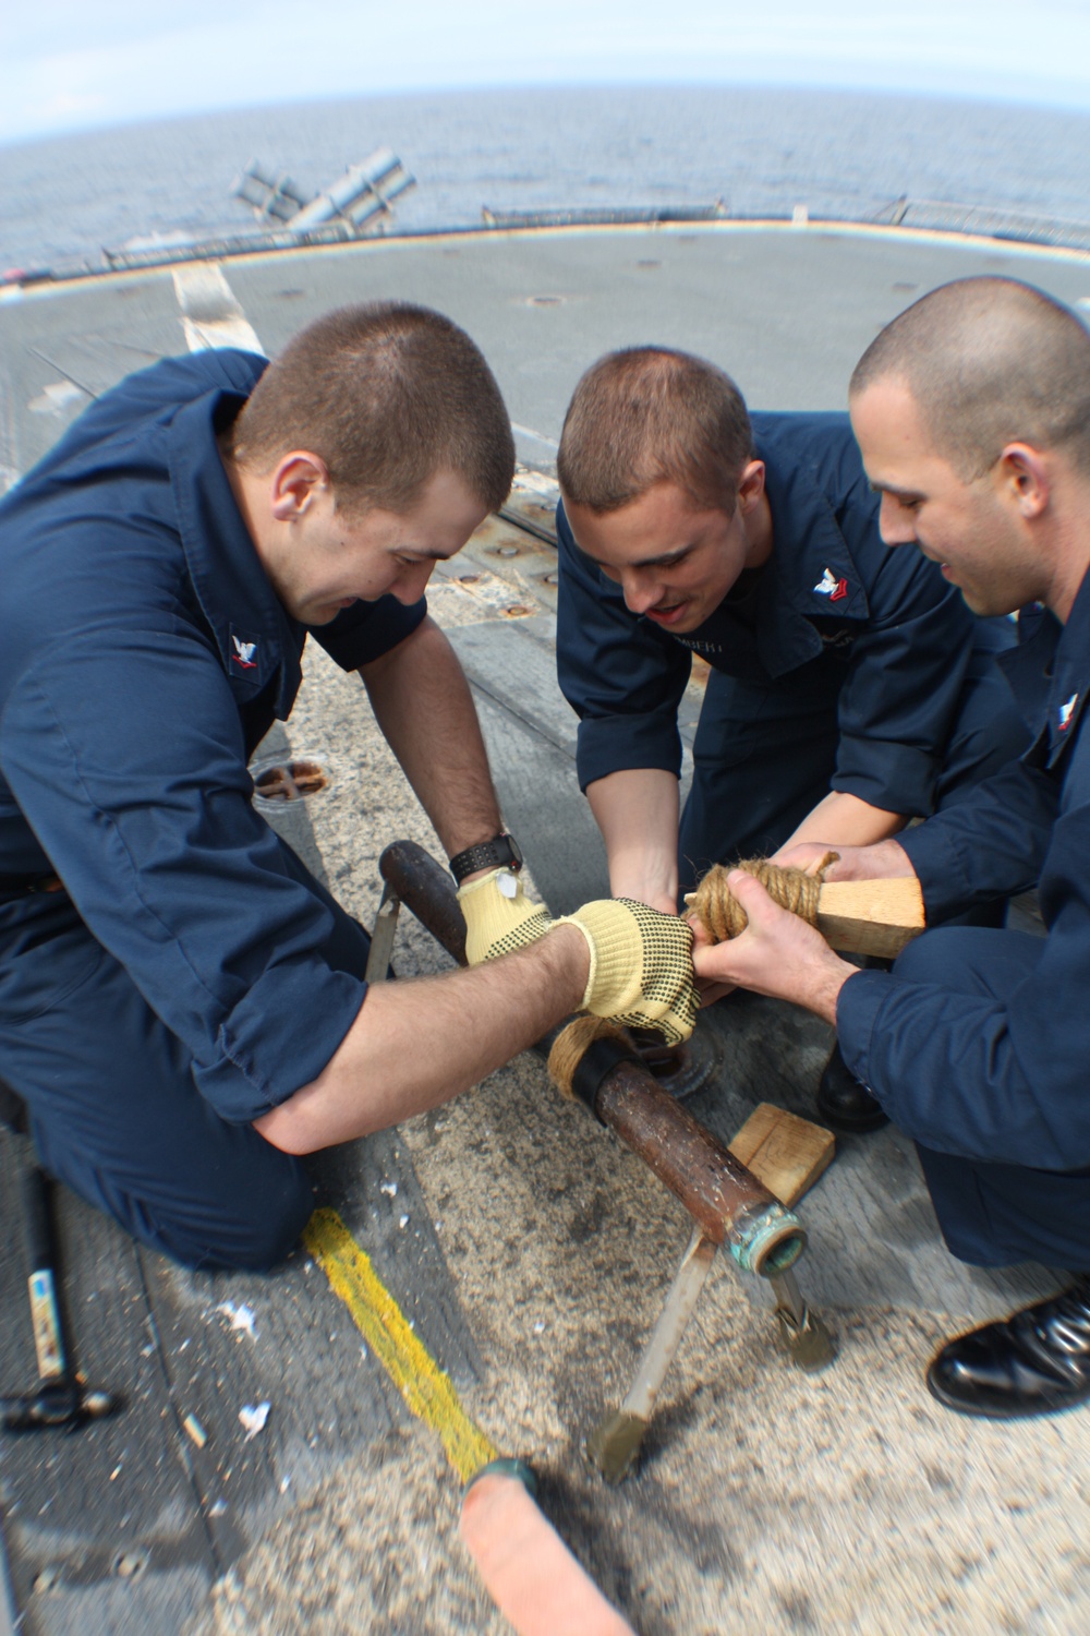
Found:
[[498, 834], [500, 807], [469, 682], [440, 627], [427, 618], [360, 674], [448, 857]]

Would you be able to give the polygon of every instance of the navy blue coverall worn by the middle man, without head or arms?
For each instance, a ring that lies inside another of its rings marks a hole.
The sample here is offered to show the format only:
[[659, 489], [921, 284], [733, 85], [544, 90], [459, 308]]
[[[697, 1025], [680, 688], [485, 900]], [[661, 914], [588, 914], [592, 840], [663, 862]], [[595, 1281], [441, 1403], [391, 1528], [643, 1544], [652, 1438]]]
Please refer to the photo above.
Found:
[[691, 656], [711, 666], [678, 839], [678, 888], [775, 852], [830, 790], [904, 818], [961, 798], [1025, 744], [994, 654], [936, 566], [891, 553], [845, 414], [753, 414], [773, 555], [691, 631], [632, 614], [557, 509], [557, 676], [580, 717], [585, 790], [681, 767]]

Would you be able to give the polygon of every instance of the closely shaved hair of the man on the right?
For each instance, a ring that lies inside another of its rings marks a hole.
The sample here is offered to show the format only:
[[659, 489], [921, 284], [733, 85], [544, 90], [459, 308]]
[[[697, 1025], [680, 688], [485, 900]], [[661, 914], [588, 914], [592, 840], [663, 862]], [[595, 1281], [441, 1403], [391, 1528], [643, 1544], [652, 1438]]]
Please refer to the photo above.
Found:
[[963, 481], [1015, 442], [1061, 450], [1090, 473], [1090, 332], [1033, 285], [959, 278], [931, 290], [874, 337], [851, 396], [887, 376], [912, 393]]

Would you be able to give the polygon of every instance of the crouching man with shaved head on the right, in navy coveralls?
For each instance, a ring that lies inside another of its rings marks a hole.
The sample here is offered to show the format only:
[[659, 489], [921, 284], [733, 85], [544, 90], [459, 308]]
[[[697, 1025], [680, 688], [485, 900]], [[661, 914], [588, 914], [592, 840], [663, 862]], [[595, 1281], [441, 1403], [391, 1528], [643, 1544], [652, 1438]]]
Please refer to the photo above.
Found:
[[830, 875], [915, 872], [928, 926], [1036, 883], [1046, 936], [938, 924], [892, 973], [858, 972], [734, 875], [747, 931], [698, 947], [696, 969], [835, 1021], [848, 1067], [915, 1139], [954, 1255], [1080, 1274], [928, 1371], [958, 1412], [1051, 1414], [1090, 1397], [1090, 335], [1030, 286], [959, 280], [871, 344], [851, 419], [894, 556], [941, 563], [979, 615], [1021, 607], [1002, 664], [1033, 741]]

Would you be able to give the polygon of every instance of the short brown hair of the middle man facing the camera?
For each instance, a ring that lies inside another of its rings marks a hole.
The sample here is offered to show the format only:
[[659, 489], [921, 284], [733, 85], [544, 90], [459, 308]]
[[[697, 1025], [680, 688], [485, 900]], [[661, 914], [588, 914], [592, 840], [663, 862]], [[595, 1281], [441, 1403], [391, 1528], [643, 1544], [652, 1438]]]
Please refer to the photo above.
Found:
[[675, 483], [698, 510], [732, 512], [753, 456], [745, 399], [704, 358], [629, 347], [598, 358], [564, 419], [557, 476], [567, 499], [618, 510], [655, 483]]

